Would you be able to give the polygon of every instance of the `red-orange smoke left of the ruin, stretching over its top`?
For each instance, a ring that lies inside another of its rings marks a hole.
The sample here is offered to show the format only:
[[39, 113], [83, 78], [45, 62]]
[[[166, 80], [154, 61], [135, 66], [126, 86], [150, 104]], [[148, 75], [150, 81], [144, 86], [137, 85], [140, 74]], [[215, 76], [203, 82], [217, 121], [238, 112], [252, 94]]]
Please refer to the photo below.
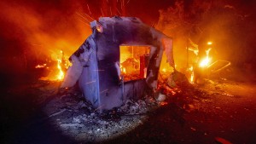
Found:
[[69, 57], [90, 35], [90, 21], [101, 16], [133, 16], [153, 26], [159, 17], [158, 10], [171, 2], [2, 0], [0, 77], [14, 81], [15, 77], [26, 78], [34, 66], [60, 59], [61, 50]]

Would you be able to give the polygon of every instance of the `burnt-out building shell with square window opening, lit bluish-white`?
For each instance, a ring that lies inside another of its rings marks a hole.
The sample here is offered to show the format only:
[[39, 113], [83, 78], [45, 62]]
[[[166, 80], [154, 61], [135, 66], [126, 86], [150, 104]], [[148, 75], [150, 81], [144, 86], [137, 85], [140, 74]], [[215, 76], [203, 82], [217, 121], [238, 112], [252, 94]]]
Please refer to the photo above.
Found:
[[[135, 17], [102, 17], [90, 22], [90, 27], [92, 34], [69, 58], [72, 66], [61, 87], [78, 82], [84, 98], [100, 112], [120, 107], [128, 99], [140, 99], [145, 92], [152, 94], [164, 51], [167, 62], [174, 67], [172, 38]], [[135, 80], [124, 81], [121, 75], [122, 45], [148, 47], [148, 54], [140, 56], [141, 75]]]

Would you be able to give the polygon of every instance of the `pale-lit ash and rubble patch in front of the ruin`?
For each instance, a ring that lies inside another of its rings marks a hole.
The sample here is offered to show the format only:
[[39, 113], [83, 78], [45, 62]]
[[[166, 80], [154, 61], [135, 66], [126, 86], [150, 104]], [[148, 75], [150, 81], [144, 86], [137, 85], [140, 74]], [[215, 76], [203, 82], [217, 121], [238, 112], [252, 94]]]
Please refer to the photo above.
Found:
[[97, 112], [77, 89], [62, 89], [44, 106], [44, 112], [56, 129], [76, 141], [107, 141], [143, 124], [148, 112], [160, 102], [145, 96], [143, 100], [127, 100], [122, 107]]

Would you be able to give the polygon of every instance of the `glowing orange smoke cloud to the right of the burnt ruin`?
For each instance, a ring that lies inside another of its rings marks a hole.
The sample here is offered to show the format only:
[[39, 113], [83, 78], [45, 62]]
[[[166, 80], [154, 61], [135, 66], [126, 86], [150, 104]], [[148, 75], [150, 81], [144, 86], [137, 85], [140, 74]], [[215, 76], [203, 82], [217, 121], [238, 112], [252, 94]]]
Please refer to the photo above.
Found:
[[[189, 2], [189, 3], [188, 3]], [[206, 55], [207, 41], [212, 41], [210, 56], [230, 60], [232, 65], [255, 61], [255, 21], [252, 6], [242, 1], [179, 0], [160, 11], [157, 28], [174, 39], [174, 58], [178, 66], [193, 63], [187, 54], [188, 39], [198, 44], [199, 57]], [[196, 59], [195, 59], [196, 60]]]

